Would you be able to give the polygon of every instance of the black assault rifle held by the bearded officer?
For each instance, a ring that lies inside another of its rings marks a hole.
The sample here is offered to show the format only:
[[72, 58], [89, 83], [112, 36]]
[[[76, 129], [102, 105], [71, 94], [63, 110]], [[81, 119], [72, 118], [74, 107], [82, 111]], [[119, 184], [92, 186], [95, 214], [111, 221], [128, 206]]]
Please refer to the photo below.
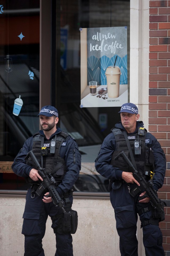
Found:
[[25, 157], [25, 159], [29, 163], [36, 165], [36, 167], [38, 168], [39, 175], [41, 176], [41, 178], [43, 178], [43, 182], [37, 188], [36, 194], [40, 196], [43, 193], [43, 191], [46, 188], [48, 188], [49, 195], [51, 196], [54, 205], [56, 207], [59, 206], [63, 212], [66, 212], [64, 209], [63, 201], [62, 201], [61, 197], [59, 196], [58, 192], [56, 191], [56, 187], [55, 187], [56, 181], [55, 181], [54, 177], [51, 174], [49, 174], [44, 168], [42, 168], [40, 166], [33, 151], [29, 151], [27, 156]]

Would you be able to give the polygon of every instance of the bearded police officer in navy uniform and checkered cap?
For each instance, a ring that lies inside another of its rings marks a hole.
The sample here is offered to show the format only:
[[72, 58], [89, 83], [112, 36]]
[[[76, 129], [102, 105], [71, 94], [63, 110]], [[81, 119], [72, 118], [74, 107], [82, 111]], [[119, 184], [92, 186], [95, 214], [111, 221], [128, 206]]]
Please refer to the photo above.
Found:
[[71, 232], [62, 231], [62, 210], [59, 206], [54, 206], [51, 197], [46, 197], [49, 195], [48, 190], [41, 196], [35, 193], [43, 179], [36, 167], [25, 161], [25, 156], [33, 151], [41, 166], [55, 178], [56, 190], [64, 200], [66, 209], [70, 210], [73, 203], [73, 185], [81, 169], [81, 155], [74, 139], [56, 127], [59, 120], [56, 108], [45, 106], [38, 116], [42, 129], [25, 141], [12, 164], [15, 174], [24, 177], [31, 185], [26, 195], [23, 214], [24, 256], [45, 255], [42, 239], [48, 215], [52, 219], [52, 228], [56, 234], [55, 256], [73, 256]]

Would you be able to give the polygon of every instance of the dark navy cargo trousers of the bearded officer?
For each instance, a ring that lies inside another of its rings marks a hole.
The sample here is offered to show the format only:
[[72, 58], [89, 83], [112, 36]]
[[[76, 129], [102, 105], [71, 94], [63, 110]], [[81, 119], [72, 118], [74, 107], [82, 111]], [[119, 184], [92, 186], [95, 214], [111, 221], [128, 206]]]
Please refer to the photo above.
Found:
[[[30, 189], [26, 195], [25, 210], [23, 214], [22, 234], [25, 236], [24, 256], [44, 256], [42, 239], [45, 235], [46, 220], [49, 216], [62, 214], [60, 207], [54, 206], [53, 202], [44, 203], [42, 196], [35, 194], [31, 198]], [[73, 203], [73, 197], [70, 196], [70, 202]], [[52, 221], [52, 228], [57, 229], [59, 218]], [[52, 231], [53, 233], [53, 231]], [[72, 236], [70, 233], [56, 233], [56, 253], [55, 256], [73, 256]], [[49, 237], [50, 239], [50, 237]]]

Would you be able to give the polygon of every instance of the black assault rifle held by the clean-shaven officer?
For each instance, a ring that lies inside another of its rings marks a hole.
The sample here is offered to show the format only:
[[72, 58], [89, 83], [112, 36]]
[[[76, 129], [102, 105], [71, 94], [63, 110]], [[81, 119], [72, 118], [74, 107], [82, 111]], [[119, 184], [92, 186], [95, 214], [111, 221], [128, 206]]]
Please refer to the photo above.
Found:
[[129, 165], [129, 167], [131, 168], [132, 172], [133, 172], [133, 176], [134, 178], [139, 182], [140, 186], [137, 186], [136, 188], [134, 188], [133, 191], [130, 191], [130, 195], [131, 196], [135, 196], [138, 194], [138, 192], [145, 190], [146, 191], [146, 195], [147, 197], [150, 198], [150, 203], [152, 205], [152, 207], [157, 208], [158, 210], [161, 210], [162, 213], [164, 213], [164, 207], [163, 207], [163, 203], [161, 203], [161, 200], [158, 198], [158, 195], [156, 193], [156, 191], [153, 188], [153, 183], [151, 180], [149, 180], [148, 182], [143, 178], [143, 174], [141, 171], [137, 171], [133, 164], [130, 162], [129, 158], [126, 156], [125, 152], [122, 151], [120, 154], [118, 154], [118, 156], [116, 156], [114, 159], [118, 159], [120, 156], [123, 157], [123, 159], [125, 160], [125, 162]]

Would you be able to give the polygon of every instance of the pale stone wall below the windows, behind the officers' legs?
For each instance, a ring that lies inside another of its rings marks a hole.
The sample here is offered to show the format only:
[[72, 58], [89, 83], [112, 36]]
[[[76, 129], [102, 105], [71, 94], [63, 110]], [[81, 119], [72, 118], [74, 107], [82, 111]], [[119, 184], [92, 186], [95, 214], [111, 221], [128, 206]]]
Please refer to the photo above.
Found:
[[[22, 215], [25, 198], [0, 197], [0, 248], [1, 256], [23, 256], [24, 235]], [[119, 238], [114, 210], [109, 199], [74, 199], [78, 212], [78, 229], [73, 235], [74, 256], [119, 256]], [[43, 239], [45, 256], [55, 254], [55, 235], [48, 218]]]

